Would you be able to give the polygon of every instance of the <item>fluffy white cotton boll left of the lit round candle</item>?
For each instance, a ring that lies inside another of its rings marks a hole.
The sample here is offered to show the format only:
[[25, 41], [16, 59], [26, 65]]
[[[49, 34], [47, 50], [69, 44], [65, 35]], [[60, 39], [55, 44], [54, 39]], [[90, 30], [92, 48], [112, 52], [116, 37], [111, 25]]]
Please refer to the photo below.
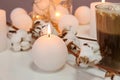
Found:
[[14, 51], [25, 51], [31, 48], [32, 35], [25, 30], [16, 30], [10, 37], [11, 48]]

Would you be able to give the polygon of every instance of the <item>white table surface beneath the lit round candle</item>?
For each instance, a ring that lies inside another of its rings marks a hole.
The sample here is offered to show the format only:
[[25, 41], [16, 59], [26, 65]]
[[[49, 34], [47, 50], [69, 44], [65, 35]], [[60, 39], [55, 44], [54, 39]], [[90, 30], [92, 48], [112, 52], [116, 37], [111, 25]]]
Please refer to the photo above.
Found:
[[0, 80], [103, 80], [103, 76], [104, 72], [99, 69], [75, 67], [71, 55], [61, 70], [43, 72], [34, 65], [31, 51], [13, 52], [8, 49], [0, 53]]

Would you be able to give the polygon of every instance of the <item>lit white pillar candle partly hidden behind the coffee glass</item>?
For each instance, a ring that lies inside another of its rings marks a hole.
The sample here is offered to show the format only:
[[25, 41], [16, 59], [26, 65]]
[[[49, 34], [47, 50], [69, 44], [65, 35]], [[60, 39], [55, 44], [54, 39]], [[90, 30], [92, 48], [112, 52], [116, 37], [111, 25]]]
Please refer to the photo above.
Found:
[[91, 9], [91, 22], [90, 22], [91, 30], [90, 30], [90, 34], [95, 39], [97, 38], [95, 6], [98, 5], [98, 4], [103, 4], [103, 3], [106, 4], [108, 2], [105, 2], [105, 0], [102, 0], [102, 2], [92, 2], [90, 4], [90, 9]]

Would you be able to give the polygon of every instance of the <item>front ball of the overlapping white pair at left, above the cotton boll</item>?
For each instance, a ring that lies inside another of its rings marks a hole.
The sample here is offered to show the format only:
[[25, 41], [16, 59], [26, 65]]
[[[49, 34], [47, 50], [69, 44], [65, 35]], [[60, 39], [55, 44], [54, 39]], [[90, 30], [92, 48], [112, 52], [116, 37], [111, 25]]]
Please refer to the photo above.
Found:
[[32, 27], [32, 19], [27, 14], [21, 14], [12, 18], [12, 24], [18, 29], [29, 31]]

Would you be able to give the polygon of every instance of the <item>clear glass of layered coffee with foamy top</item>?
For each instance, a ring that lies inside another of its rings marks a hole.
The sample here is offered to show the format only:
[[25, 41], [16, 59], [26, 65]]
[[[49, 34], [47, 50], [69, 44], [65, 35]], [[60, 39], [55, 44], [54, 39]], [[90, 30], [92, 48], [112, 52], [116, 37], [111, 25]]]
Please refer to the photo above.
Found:
[[101, 64], [120, 70], [120, 3], [97, 5], [96, 23]]

